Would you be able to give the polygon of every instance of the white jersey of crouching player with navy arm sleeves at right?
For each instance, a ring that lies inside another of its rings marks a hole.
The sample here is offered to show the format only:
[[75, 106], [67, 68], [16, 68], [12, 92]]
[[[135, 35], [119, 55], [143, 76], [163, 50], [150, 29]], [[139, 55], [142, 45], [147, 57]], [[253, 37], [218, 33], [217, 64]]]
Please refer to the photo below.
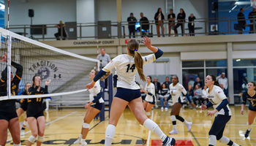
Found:
[[[222, 88], [220, 88], [217, 85], [214, 85], [214, 88], [212, 91], [209, 93], [209, 89], [206, 89], [208, 93], [208, 99], [211, 102], [211, 104], [214, 105], [214, 109], [216, 109], [220, 103], [222, 103], [223, 99], [227, 99], [225, 96], [225, 93], [222, 91]], [[222, 108], [219, 112], [215, 113], [215, 116], [217, 115], [231, 115], [231, 110], [230, 107], [228, 107], [228, 104], [226, 107]]]

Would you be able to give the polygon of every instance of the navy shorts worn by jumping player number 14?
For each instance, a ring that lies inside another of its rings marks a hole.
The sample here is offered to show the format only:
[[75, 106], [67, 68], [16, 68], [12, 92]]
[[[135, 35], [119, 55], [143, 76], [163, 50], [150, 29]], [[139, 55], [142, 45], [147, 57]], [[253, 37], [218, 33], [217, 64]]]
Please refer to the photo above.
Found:
[[119, 99], [124, 99], [125, 101], [132, 101], [133, 99], [138, 99], [141, 96], [140, 89], [132, 90], [126, 88], [117, 88], [115, 97]]

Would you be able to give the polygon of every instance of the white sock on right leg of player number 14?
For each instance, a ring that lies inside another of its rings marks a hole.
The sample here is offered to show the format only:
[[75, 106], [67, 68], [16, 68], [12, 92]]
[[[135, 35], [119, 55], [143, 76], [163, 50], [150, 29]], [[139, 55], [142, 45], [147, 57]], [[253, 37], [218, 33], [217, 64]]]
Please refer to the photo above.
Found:
[[160, 137], [162, 139], [162, 142], [165, 141], [167, 136], [164, 134], [164, 132], [162, 132], [161, 128], [159, 128], [157, 123], [155, 123], [153, 120], [150, 120], [150, 119], [145, 120], [145, 122], [143, 123], [143, 126], [145, 126], [150, 131], [152, 131], [155, 134], [157, 134], [158, 137]]

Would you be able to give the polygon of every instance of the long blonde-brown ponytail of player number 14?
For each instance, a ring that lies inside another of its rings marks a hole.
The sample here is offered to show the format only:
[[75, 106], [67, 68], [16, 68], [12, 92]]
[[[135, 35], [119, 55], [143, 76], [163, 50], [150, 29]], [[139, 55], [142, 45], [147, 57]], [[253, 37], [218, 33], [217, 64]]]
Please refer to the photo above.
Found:
[[143, 73], [143, 58], [140, 55], [140, 53], [138, 53], [138, 51], [135, 51], [135, 67], [138, 70], [138, 73], [140, 75], [140, 80], [143, 80], [143, 82], [146, 82], [146, 77]]

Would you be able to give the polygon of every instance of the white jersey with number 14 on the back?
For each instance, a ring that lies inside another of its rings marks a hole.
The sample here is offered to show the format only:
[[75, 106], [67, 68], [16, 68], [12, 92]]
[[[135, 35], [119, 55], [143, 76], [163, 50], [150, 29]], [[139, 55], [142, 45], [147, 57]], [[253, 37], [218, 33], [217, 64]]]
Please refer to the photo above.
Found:
[[[156, 60], [154, 54], [143, 56], [143, 65], [154, 60]], [[116, 68], [116, 74], [118, 75], [117, 88], [140, 89], [140, 86], [135, 82], [135, 74], [138, 70], [135, 67], [133, 56], [127, 54], [118, 55], [103, 68], [103, 71], [110, 72], [113, 68]]]

